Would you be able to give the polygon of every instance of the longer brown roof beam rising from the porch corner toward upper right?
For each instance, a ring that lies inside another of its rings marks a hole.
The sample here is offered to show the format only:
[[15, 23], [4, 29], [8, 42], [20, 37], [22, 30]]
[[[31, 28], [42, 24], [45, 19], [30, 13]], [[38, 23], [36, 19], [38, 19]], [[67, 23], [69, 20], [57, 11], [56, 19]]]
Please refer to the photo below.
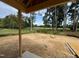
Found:
[[50, 6], [56, 6], [56, 5], [59, 5], [59, 4], [64, 4], [64, 3], [67, 3], [68, 1], [69, 0], [48, 0], [46, 2], [43, 2], [43, 3], [40, 3], [40, 4], [37, 4], [35, 6], [31, 6], [31, 7], [27, 8], [26, 13], [34, 12], [34, 11], [44, 9], [44, 8], [48, 8]]

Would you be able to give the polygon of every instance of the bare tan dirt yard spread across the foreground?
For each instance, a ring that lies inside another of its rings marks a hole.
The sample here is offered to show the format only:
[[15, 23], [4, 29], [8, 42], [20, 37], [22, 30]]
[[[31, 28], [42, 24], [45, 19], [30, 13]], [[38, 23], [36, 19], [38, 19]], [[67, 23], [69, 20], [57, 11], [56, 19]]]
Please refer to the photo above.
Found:
[[[79, 38], [41, 33], [22, 35], [22, 50], [45, 58], [75, 57], [67, 49], [67, 42], [79, 55]], [[0, 37], [0, 57], [18, 57], [17, 35]]]

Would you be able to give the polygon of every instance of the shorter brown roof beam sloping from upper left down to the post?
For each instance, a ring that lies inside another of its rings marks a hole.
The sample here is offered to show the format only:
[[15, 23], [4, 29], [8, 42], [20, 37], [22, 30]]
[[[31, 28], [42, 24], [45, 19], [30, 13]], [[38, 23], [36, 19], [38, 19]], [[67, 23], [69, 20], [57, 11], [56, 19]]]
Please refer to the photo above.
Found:
[[26, 6], [20, 0], [1, 0], [12, 7], [19, 9], [21, 12], [26, 12]]

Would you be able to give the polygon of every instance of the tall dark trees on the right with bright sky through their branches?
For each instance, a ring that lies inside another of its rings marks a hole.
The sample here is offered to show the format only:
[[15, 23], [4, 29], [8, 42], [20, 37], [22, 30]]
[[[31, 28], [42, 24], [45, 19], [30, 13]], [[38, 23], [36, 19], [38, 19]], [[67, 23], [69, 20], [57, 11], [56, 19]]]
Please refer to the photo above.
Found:
[[79, 27], [79, 1], [71, 5], [62, 4], [48, 8], [43, 21], [46, 27], [56, 28], [55, 30], [59, 27], [65, 30], [68, 27], [71, 31], [77, 31]]

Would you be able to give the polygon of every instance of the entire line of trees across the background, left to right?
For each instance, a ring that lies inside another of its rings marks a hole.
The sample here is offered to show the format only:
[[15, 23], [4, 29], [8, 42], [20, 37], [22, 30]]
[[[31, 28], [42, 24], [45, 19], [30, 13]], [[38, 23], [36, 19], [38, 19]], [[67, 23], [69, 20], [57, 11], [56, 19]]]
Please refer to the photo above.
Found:
[[[30, 13], [30, 17], [22, 16], [22, 28], [31, 27], [32, 30], [36, 21], [35, 17], [35, 12]], [[18, 28], [18, 21], [17, 15], [8, 15], [0, 19], [0, 28]], [[79, 28], [79, 1], [71, 5], [66, 3], [47, 8], [42, 21], [44, 24], [42, 27], [51, 27], [56, 31], [58, 28], [63, 28], [63, 31], [66, 28], [70, 28], [71, 31], [77, 31], [77, 28]]]

